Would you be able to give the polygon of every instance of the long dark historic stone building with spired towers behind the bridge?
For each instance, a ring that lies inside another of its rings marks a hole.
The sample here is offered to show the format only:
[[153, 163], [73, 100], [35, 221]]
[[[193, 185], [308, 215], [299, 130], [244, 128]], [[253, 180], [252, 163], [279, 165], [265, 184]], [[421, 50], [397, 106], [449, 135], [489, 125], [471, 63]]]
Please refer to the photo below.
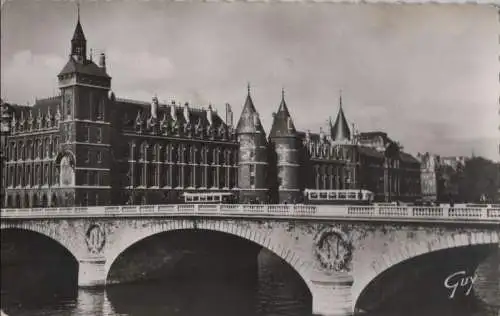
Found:
[[351, 131], [342, 101], [328, 133], [298, 131], [284, 95], [266, 136], [250, 89], [233, 126], [208, 105], [119, 99], [105, 55], [87, 56], [78, 20], [60, 94], [2, 102], [6, 207], [177, 203], [184, 192], [240, 202], [300, 202], [305, 189], [367, 189], [380, 201], [420, 195], [420, 164], [384, 133]]

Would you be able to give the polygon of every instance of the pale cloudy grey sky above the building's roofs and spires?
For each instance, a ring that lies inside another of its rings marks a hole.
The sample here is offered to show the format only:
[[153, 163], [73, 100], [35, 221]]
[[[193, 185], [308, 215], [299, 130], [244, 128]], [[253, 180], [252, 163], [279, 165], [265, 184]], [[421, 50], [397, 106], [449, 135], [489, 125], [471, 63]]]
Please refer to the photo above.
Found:
[[[281, 89], [295, 125], [318, 132], [343, 108], [361, 132], [412, 154], [500, 161], [499, 21], [491, 6], [81, 0], [87, 47], [106, 53], [117, 97], [175, 99], [237, 121], [250, 82], [269, 131]], [[6, 1], [1, 96], [55, 95], [76, 2]], [[97, 60], [97, 56], [94, 60]]]

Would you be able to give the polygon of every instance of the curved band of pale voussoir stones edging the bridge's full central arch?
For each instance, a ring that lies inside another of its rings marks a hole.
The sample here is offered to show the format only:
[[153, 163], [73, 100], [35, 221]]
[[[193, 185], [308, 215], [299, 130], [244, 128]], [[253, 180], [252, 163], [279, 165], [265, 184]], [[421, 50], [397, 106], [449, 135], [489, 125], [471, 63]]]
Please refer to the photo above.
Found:
[[[179, 225], [181, 226], [181, 225]], [[187, 225], [186, 225], [187, 226]], [[141, 242], [153, 235], [182, 231], [182, 230], [199, 230], [199, 231], [209, 231], [214, 233], [223, 233], [233, 237], [241, 238], [248, 242], [254, 243], [286, 262], [291, 268], [300, 276], [302, 281], [306, 284], [309, 293], [312, 293], [312, 282], [307, 274], [307, 268], [309, 267], [306, 262], [303, 262], [299, 255], [297, 255], [293, 250], [288, 247], [283, 247], [276, 243], [269, 236], [264, 236], [256, 231], [251, 231], [249, 229], [237, 229], [236, 227], [231, 227], [231, 225], [220, 225], [219, 227], [214, 225], [204, 225], [200, 223], [197, 227], [176, 227], [176, 225], [171, 225], [170, 227], [164, 227], [162, 225], [154, 225], [150, 227], [151, 230], [142, 231], [141, 234], [124, 234], [123, 238], [120, 238], [119, 243], [113, 247], [111, 253], [108, 253], [107, 260], [105, 264], [106, 271], [106, 282], [108, 280], [109, 272], [116, 259], [125, 252], [128, 248], [134, 244]], [[132, 237], [130, 237], [132, 236]], [[311, 294], [312, 295], [312, 294]]]

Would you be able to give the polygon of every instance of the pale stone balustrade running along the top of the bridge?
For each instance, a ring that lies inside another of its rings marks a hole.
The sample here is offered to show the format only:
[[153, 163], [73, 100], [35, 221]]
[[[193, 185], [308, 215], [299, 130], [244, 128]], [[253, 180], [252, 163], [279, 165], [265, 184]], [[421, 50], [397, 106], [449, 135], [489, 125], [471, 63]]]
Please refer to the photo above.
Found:
[[350, 206], [303, 204], [167, 204], [2, 209], [2, 219], [52, 217], [233, 216], [363, 220], [482, 221], [500, 224], [500, 207]]

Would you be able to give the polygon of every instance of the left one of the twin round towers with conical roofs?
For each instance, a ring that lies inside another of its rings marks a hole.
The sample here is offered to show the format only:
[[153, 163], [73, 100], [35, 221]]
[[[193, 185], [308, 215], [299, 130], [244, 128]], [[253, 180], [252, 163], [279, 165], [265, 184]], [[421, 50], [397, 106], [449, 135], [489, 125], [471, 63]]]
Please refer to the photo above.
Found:
[[238, 188], [240, 203], [264, 203], [268, 201], [268, 152], [264, 128], [259, 119], [250, 87], [236, 127], [239, 142]]

